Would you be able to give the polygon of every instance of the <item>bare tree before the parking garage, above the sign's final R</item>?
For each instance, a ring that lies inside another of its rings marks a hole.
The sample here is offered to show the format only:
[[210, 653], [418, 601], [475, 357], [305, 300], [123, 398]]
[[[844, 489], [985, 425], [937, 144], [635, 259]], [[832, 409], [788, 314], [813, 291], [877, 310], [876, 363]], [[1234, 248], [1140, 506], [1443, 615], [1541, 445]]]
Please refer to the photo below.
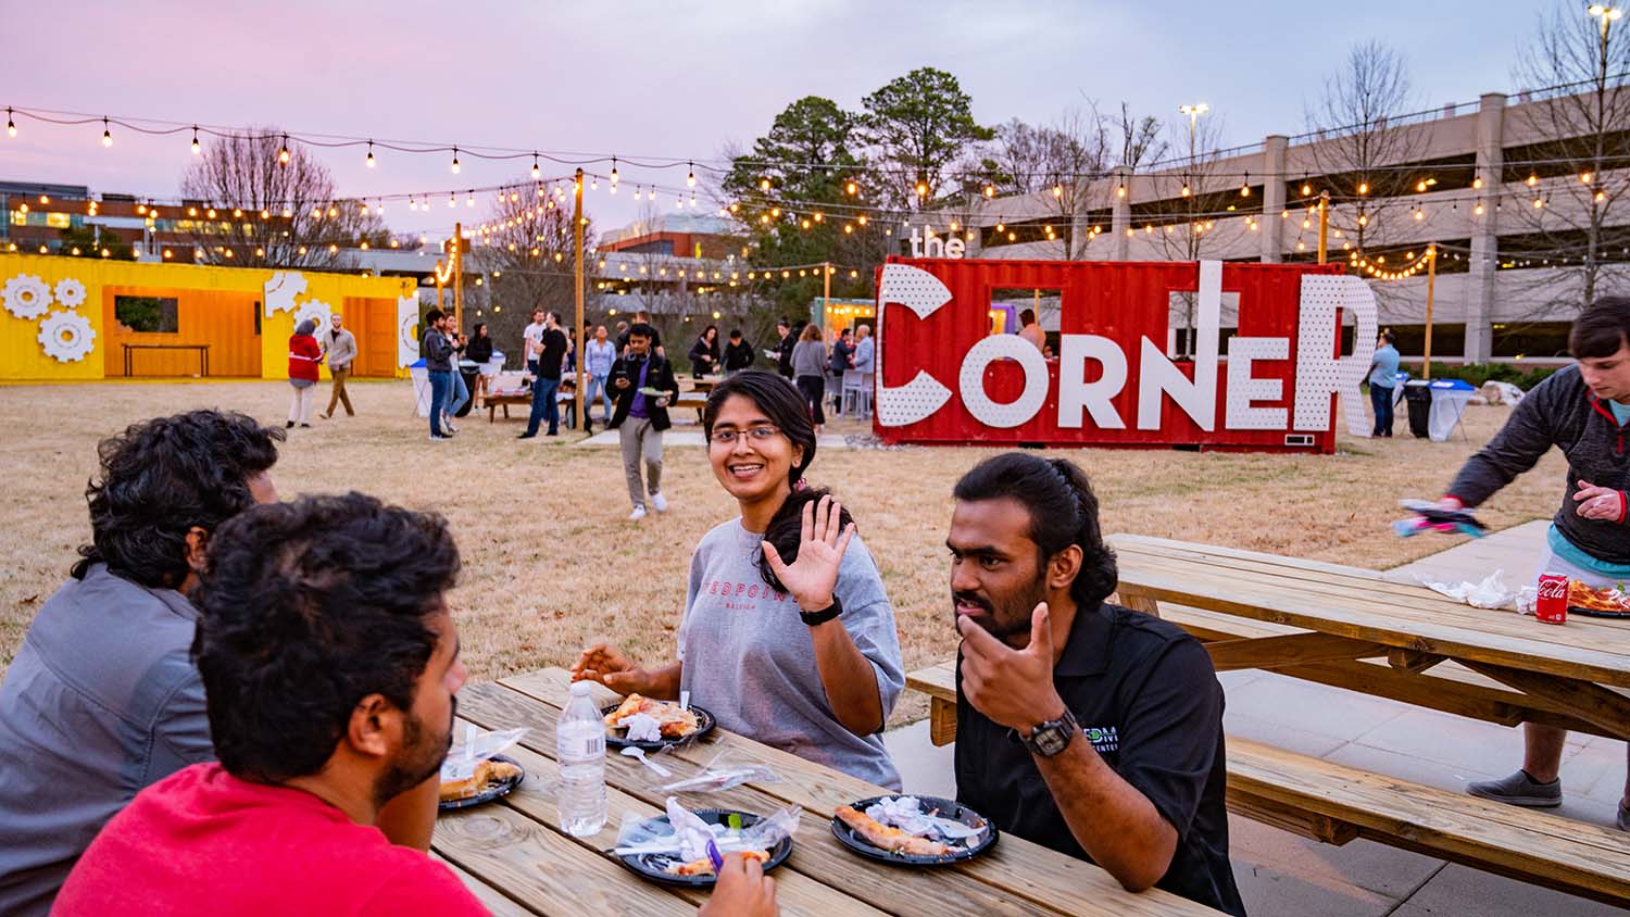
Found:
[[1341, 65], [1325, 77], [1324, 94], [1307, 106], [1307, 129], [1317, 135], [1309, 147], [1314, 163], [1335, 195], [1355, 202], [1332, 213], [1332, 226], [1351, 236], [1363, 251], [1387, 244], [1389, 226], [1402, 225], [1399, 210], [1420, 176], [1397, 166], [1421, 156], [1426, 134], [1399, 127], [1399, 116], [1415, 107], [1408, 65], [1379, 41], [1355, 44]]

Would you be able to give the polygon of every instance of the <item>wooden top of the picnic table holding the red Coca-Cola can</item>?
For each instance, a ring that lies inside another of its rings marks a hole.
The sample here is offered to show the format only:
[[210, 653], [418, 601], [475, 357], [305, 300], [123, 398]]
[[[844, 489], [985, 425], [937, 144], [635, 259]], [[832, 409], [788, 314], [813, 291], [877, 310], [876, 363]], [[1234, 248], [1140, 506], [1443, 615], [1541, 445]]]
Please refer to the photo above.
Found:
[[1565, 625], [1472, 608], [1374, 570], [1182, 541], [1112, 536], [1120, 580], [1161, 601], [1307, 630], [1630, 687], [1630, 621]]

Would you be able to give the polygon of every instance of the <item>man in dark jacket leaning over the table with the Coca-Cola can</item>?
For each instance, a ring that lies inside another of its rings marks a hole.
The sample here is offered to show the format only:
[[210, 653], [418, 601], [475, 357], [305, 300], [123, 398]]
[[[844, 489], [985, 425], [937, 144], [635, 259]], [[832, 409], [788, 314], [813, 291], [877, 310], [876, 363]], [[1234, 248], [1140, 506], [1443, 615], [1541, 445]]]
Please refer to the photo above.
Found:
[[[1529, 581], [1562, 573], [1586, 586], [1615, 586], [1630, 581], [1630, 296], [1591, 303], [1575, 319], [1568, 345], [1578, 363], [1522, 397], [1439, 505], [1482, 505], [1557, 446], [1568, 458], [1568, 479]], [[1522, 767], [1465, 792], [1516, 806], [1560, 806], [1566, 739], [1566, 730], [1524, 723]], [[1619, 829], [1630, 831], [1630, 775]]]

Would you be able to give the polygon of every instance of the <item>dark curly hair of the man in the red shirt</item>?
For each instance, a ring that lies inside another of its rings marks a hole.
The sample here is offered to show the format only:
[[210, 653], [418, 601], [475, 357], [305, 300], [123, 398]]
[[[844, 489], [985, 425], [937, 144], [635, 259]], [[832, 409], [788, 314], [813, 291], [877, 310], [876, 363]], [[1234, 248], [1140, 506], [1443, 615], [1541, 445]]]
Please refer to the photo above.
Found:
[[458, 577], [434, 513], [363, 494], [243, 511], [210, 539], [192, 660], [233, 775], [316, 774], [370, 694], [412, 709], [435, 650], [429, 619]]

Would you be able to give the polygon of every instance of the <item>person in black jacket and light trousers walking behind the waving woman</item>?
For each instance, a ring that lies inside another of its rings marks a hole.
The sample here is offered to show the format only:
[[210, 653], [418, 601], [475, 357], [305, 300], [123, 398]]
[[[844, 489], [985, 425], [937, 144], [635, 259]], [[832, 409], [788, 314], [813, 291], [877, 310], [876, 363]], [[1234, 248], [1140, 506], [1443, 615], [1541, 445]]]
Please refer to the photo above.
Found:
[[[623, 445], [623, 474], [628, 477], [628, 497], [634, 503], [629, 520], [645, 518], [645, 494], [650, 508], [668, 511], [662, 495], [662, 432], [673, 425], [668, 406], [680, 397], [680, 383], [673, 366], [652, 352], [655, 331], [644, 322], [628, 329], [628, 353], [611, 365], [611, 391], [616, 393], [616, 412], [606, 428], [616, 430]], [[660, 394], [652, 394], [660, 393]], [[645, 479], [639, 466], [645, 463]]]

